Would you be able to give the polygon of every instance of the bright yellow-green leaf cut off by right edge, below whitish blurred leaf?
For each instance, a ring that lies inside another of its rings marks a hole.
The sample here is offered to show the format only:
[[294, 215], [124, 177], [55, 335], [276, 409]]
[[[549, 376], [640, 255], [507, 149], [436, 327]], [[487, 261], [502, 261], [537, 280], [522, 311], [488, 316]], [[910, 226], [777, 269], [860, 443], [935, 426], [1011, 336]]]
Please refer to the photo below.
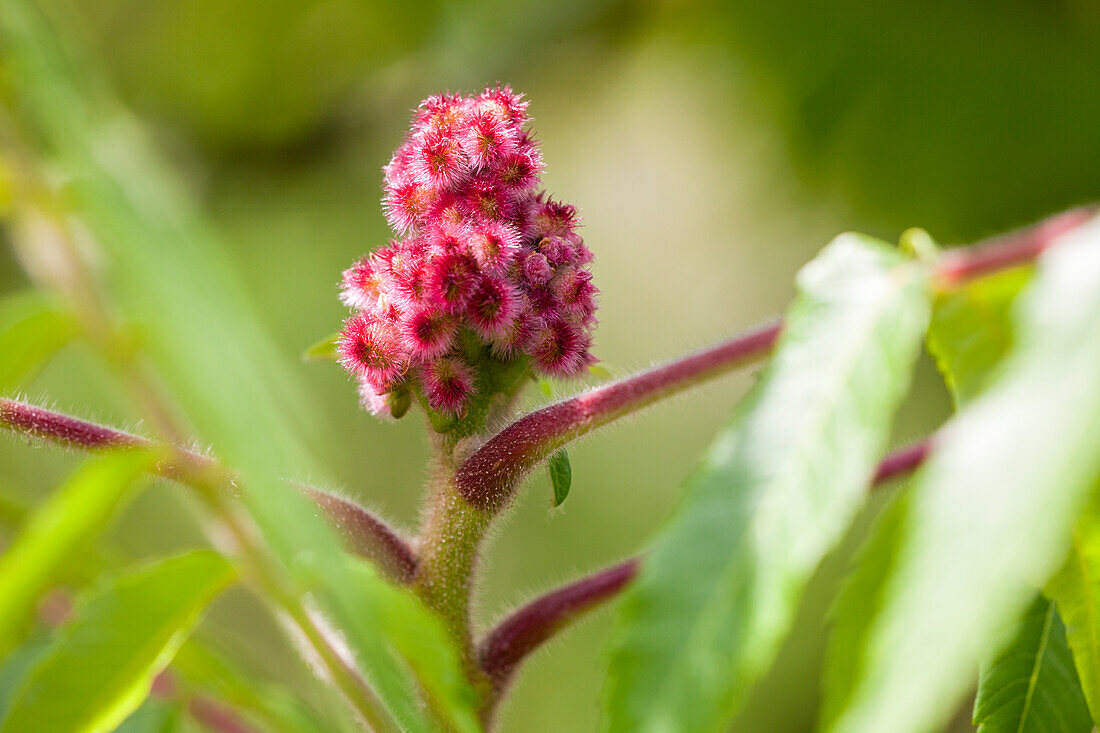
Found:
[[1085, 699], [1100, 721], [1100, 506], [1093, 501], [1074, 529], [1069, 557], [1046, 586], [1066, 624]]

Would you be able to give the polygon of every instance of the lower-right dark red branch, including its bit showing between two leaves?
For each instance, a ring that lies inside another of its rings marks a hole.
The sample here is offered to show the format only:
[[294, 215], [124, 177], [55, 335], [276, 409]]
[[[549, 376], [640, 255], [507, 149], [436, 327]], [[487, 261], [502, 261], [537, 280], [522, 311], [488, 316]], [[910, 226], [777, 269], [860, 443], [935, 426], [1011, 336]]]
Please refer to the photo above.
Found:
[[[931, 451], [930, 438], [887, 456], [875, 472], [871, 488], [915, 471]], [[507, 688], [519, 663], [543, 642], [582, 613], [618, 595], [638, 573], [641, 560], [641, 557], [630, 558], [540, 595], [513, 611], [486, 634], [477, 660], [493, 681], [494, 699]], [[487, 712], [492, 712], [492, 701]]]

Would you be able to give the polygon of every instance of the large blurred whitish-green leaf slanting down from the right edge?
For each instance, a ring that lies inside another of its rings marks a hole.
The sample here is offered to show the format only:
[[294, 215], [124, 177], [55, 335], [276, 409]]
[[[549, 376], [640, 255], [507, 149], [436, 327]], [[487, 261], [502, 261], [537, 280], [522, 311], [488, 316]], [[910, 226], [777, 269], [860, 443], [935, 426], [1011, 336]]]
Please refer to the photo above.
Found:
[[832, 730], [923, 732], [1065, 557], [1100, 474], [1100, 222], [1050, 248], [993, 382], [919, 474]]

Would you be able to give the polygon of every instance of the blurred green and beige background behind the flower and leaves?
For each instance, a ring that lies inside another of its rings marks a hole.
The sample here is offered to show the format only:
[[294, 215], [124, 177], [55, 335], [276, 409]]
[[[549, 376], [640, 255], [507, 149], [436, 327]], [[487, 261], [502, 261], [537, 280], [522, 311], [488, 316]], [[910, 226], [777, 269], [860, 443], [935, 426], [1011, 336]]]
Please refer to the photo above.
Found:
[[[893, 241], [921, 226], [963, 242], [1100, 198], [1092, 0], [40, 4], [150, 125], [231, 247], [324, 416], [305, 428], [330, 474], [406, 526], [418, 511], [422, 426], [377, 423], [341, 370], [297, 354], [343, 317], [341, 270], [388, 239], [381, 166], [428, 94], [502, 81], [528, 95], [547, 188], [579, 205], [597, 255], [597, 354], [619, 373], [780, 314], [798, 267], [839, 231]], [[0, 288], [25, 284], [4, 248]], [[477, 616], [635, 551], [749, 379], [578, 446], [561, 511], [549, 511], [548, 480], [532, 480], [493, 543]], [[133, 425], [80, 347], [28, 395]], [[948, 409], [923, 364], [898, 441]], [[0, 489], [41, 496], [77, 460], [4, 439]], [[147, 492], [119, 543], [148, 554], [196, 541], [177, 491]], [[828, 602], [858, 539], [859, 528], [818, 573], [734, 730], [812, 729]], [[503, 730], [593, 729], [608, 615], [532, 659]], [[243, 594], [221, 602], [212, 625], [229, 648], [249, 649], [246, 665], [300, 682], [293, 652]]]

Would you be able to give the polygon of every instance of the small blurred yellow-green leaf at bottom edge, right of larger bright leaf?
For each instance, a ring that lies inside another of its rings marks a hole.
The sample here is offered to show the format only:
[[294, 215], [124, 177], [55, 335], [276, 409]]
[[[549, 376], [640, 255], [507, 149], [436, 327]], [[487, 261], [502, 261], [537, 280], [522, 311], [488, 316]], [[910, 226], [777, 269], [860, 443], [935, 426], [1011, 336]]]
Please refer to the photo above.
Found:
[[279, 733], [331, 730], [289, 690], [246, 675], [207, 645], [188, 639], [172, 661], [172, 669], [189, 687], [224, 700], [261, 724]]

